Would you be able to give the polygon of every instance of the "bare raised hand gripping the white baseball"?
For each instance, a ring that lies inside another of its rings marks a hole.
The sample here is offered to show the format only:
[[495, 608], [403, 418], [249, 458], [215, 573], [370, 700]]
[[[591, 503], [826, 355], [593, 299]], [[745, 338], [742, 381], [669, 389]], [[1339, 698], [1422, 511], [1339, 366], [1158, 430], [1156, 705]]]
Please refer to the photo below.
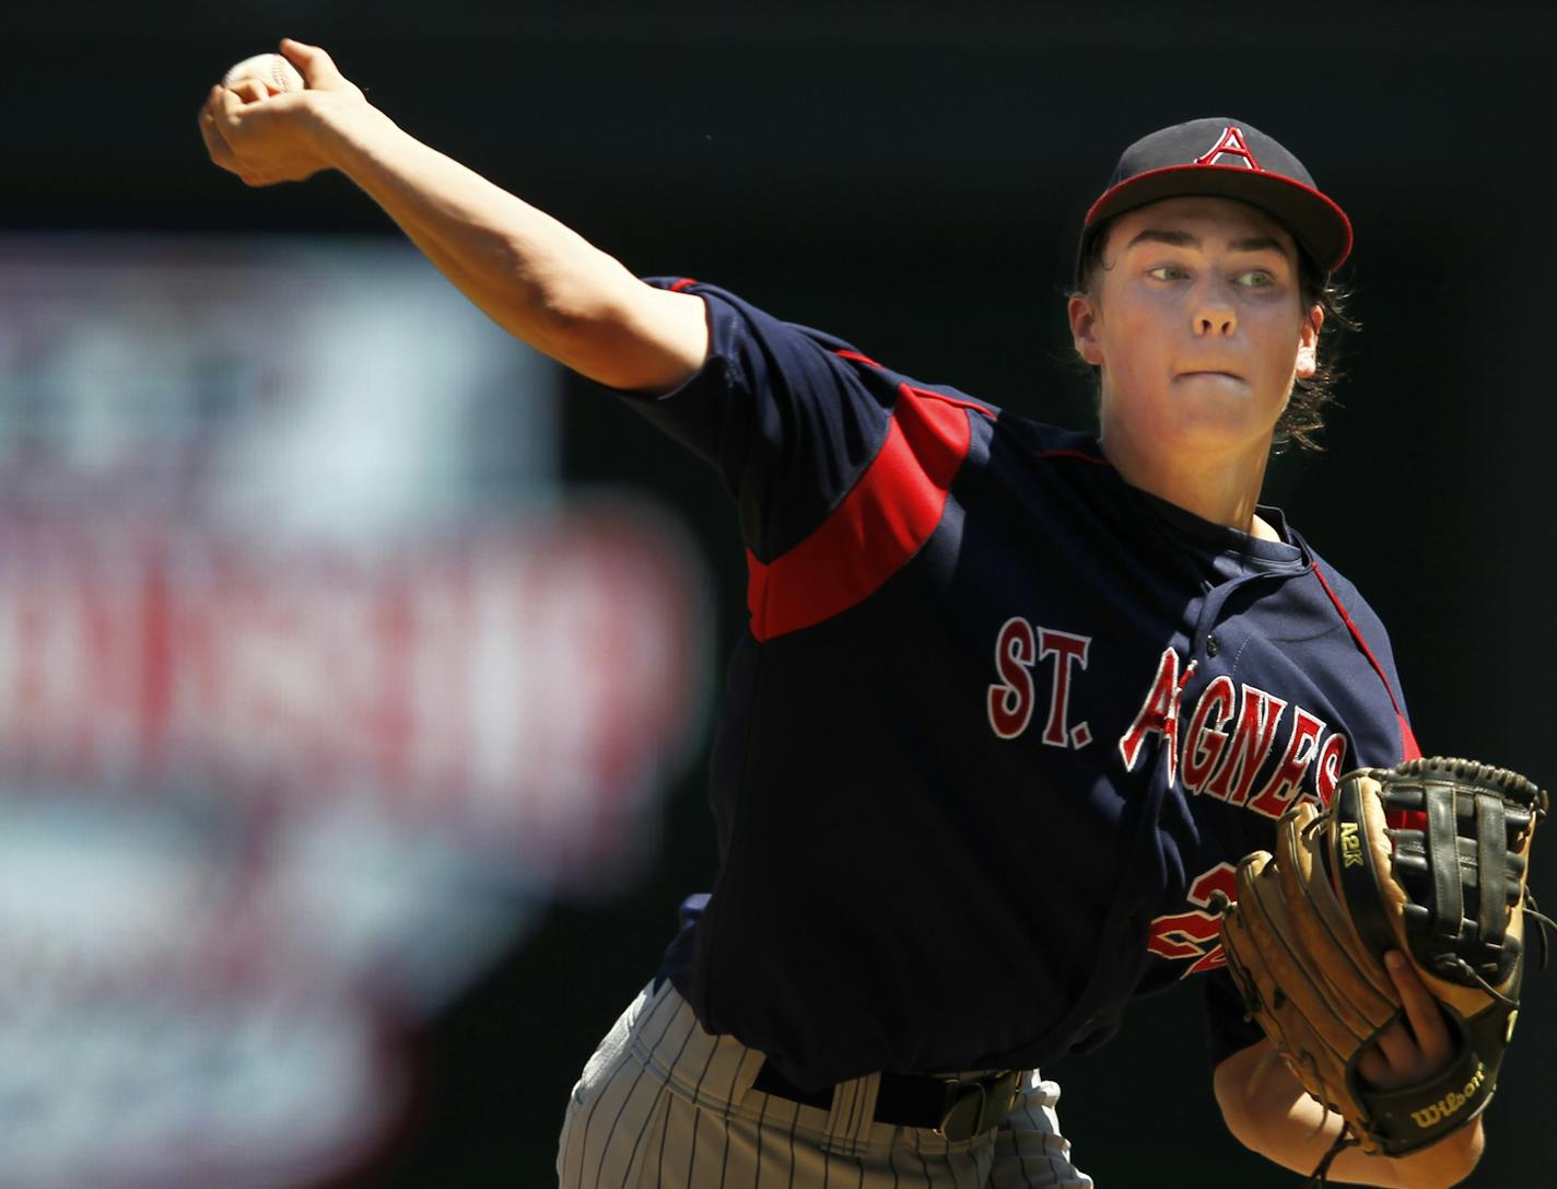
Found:
[[258, 79], [240, 78], [230, 87], [212, 87], [199, 111], [210, 159], [249, 185], [302, 181], [327, 168], [311, 136], [321, 109], [367, 104], [324, 50], [290, 37], [280, 50], [297, 67], [305, 90], [271, 93]]

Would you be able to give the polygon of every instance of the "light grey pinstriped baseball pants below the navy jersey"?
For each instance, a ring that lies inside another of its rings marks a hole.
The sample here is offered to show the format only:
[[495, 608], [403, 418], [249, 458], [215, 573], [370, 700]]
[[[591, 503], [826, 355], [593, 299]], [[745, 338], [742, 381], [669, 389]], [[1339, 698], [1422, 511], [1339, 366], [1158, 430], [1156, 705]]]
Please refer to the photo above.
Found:
[[1028, 1078], [1006, 1120], [967, 1141], [872, 1119], [877, 1075], [830, 1111], [752, 1089], [763, 1057], [712, 1036], [666, 980], [645, 988], [573, 1088], [561, 1189], [1084, 1189], [1059, 1086]]

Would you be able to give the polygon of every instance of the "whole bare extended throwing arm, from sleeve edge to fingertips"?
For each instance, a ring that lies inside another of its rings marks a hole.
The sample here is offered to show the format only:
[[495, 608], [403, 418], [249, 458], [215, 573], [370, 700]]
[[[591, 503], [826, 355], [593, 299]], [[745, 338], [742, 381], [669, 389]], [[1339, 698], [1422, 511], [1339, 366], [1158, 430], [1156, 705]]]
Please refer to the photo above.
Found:
[[212, 161], [249, 185], [341, 170], [487, 316], [612, 388], [670, 391], [708, 351], [704, 304], [638, 280], [557, 220], [395, 126], [330, 56], [283, 41], [308, 89], [212, 87]]

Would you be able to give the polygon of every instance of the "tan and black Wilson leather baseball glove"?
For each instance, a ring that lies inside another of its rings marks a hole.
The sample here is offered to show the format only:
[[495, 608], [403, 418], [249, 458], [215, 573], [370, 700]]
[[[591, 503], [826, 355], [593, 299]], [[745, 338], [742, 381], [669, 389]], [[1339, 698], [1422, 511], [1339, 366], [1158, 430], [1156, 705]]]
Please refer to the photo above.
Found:
[[[1545, 924], [1526, 876], [1546, 806], [1523, 776], [1470, 760], [1361, 768], [1327, 810], [1302, 803], [1281, 817], [1275, 856], [1239, 863], [1227, 965], [1303, 1088], [1345, 1117], [1331, 1156], [1348, 1142], [1415, 1152], [1487, 1106], [1518, 1014], [1524, 916]], [[1384, 1088], [1362, 1069], [1406, 1018], [1389, 951], [1436, 999], [1451, 1055]]]

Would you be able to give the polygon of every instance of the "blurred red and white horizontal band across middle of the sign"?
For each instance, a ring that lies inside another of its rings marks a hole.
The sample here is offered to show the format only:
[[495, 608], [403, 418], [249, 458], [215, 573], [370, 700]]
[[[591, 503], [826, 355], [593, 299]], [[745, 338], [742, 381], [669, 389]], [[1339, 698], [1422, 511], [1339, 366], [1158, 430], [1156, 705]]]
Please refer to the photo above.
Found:
[[599, 888], [696, 717], [693, 573], [629, 505], [372, 553], [0, 520], [0, 773], [349, 796]]

